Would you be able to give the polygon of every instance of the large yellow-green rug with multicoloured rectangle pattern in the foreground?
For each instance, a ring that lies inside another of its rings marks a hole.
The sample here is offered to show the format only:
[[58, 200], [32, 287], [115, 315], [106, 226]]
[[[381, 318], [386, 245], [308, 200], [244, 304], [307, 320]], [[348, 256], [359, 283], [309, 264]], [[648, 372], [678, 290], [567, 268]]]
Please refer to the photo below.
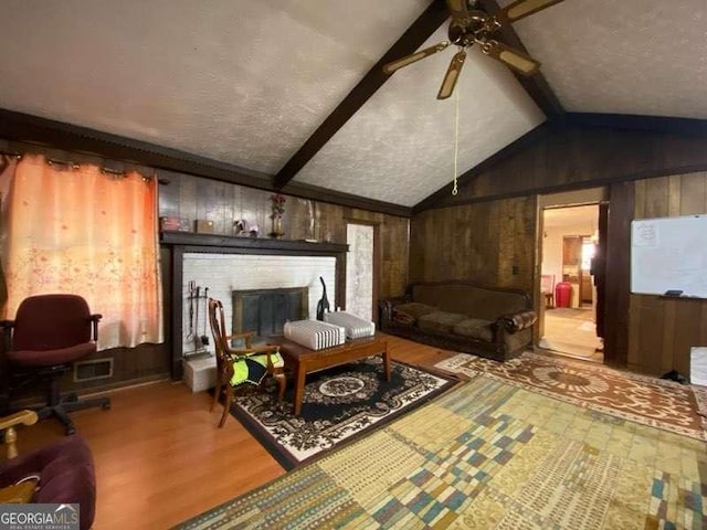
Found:
[[477, 377], [178, 528], [704, 528], [701, 442]]

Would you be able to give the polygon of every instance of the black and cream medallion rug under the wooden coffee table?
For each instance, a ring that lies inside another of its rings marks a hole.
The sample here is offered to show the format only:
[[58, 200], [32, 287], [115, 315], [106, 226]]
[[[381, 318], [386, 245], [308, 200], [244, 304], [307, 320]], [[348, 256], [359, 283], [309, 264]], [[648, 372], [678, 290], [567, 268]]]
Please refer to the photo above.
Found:
[[435, 375], [394, 361], [390, 381], [382, 373], [382, 359], [376, 356], [307, 375], [299, 416], [292, 415], [292, 385], [279, 404], [275, 392], [239, 396], [231, 414], [285, 469], [292, 469], [458, 383], [454, 375]]

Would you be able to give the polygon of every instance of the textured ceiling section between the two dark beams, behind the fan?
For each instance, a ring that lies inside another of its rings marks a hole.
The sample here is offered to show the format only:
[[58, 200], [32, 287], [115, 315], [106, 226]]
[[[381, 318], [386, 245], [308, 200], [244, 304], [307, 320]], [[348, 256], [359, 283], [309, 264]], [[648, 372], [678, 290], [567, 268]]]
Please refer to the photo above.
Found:
[[[422, 47], [445, 35], [443, 28]], [[447, 49], [393, 74], [295, 181], [412, 206], [445, 184], [451, 190], [457, 95], [462, 172], [545, 120], [508, 68], [476, 49], [455, 94], [436, 99], [454, 53]]]

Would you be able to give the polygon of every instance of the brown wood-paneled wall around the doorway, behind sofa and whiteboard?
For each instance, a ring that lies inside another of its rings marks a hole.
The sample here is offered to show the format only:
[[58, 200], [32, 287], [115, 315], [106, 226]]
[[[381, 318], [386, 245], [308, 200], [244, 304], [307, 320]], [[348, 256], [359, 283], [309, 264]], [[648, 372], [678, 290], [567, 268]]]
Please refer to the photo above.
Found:
[[687, 375], [689, 348], [707, 346], [707, 301], [632, 295], [630, 230], [632, 219], [707, 213], [706, 147], [699, 134], [545, 126], [458, 195], [425, 201], [434, 210], [411, 220], [411, 280], [466, 277], [537, 293], [538, 193], [606, 186], [606, 362]]

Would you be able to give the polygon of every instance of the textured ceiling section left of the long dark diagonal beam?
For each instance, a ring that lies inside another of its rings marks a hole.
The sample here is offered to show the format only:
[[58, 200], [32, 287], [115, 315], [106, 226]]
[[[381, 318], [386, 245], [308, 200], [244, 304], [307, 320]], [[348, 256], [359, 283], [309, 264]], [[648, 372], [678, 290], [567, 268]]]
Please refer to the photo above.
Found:
[[266, 173], [279, 170], [428, 6], [2, 3], [0, 106]]

